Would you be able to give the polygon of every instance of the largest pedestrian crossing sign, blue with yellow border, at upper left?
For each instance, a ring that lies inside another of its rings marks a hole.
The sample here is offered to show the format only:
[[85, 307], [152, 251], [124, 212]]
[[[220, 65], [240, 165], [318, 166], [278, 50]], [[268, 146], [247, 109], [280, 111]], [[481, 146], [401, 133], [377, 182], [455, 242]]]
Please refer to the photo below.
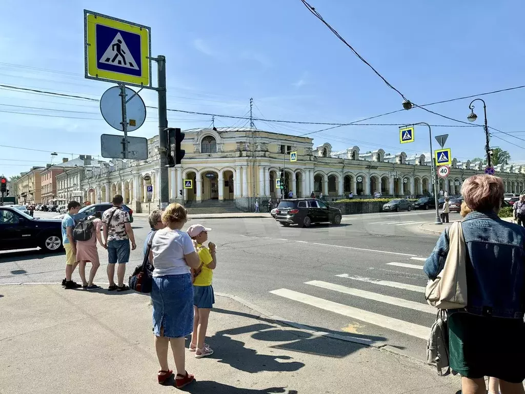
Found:
[[148, 26], [84, 10], [85, 77], [151, 87]]

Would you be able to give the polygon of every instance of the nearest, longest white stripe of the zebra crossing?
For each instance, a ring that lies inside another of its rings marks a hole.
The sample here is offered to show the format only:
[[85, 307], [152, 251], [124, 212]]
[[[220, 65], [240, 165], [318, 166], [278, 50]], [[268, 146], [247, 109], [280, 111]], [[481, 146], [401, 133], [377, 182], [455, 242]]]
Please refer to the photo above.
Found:
[[394, 317], [368, 312], [367, 310], [354, 308], [348, 305], [335, 303], [327, 299], [295, 292], [286, 288], [272, 290], [270, 293], [424, 340], [428, 340], [428, 336], [430, 335], [430, 329], [428, 327], [405, 322], [404, 320], [396, 319]]

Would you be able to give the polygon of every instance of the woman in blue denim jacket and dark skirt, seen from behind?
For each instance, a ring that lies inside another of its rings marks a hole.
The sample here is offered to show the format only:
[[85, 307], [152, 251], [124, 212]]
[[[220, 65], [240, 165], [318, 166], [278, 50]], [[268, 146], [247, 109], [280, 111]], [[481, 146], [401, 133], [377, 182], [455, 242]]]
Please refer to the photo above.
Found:
[[[463, 394], [485, 394], [485, 376], [502, 394], [523, 394], [525, 380], [525, 229], [498, 217], [503, 182], [474, 175], [461, 188], [472, 212], [462, 223], [467, 247], [467, 307], [448, 310], [450, 368], [463, 378]], [[445, 265], [448, 229], [425, 262], [435, 279]]]

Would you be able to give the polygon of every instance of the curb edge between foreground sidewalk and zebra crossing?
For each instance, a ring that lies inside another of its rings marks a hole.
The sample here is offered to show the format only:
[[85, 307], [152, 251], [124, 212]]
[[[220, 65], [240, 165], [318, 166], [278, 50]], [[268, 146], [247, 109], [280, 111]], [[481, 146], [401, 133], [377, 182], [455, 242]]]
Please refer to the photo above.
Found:
[[435, 367], [429, 366], [425, 361], [420, 360], [418, 358], [415, 358], [413, 356], [407, 355], [404, 352], [400, 351], [399, 349], [397, 349], [397, 348], [395, 348], [395, 347], [393, 347], [391, 345], [385, 345], [385, 344], [378, 345], [378, 344], [372, 343], [371, 340], [351, 337], [351, 336], [348, 336], [348, 335], [339, 335], [339, 334], [325, 333], [324, 331], [315, 330], [312, 327], [309, 327], [307, 325], [296, 323], [296, 322], [291, 322], [290, 320], [287, 320], [287, 319], [282, 318], [280, 316], [272, 315], [271, 313], [269, 313], [266, 310], [258, 307], [255, 304], [250, 303], [249, 301], [245, 300], [244, 298], [240, 298], [238, 296], [234, 296], [234, 295], [231, 295], [231, 294], [218, 293], [218, 292], [215, 292], [215, 295], [218, 296], [218, 297], [226, 297], [226, 298], [233, 299], [234, 301], [238, 302], [239, 304], [242, 304], [242, 305], [246, 306], [249, 309], [255, 310], [255, 312], [259, 313], [262, 317], [264, 317], [266, 319], [273, 320], [277, 324], [286, 325], [286, 326], [290, 326], [290, 327], [293, 327], [293, 328], [300, 329], [302, 331], [306, 331], [311, 336], [339, 339], [339, 340], [343, 340], [345, 342], [350, 342], [350, 343], [354, 343], [354, 344], [368, 346], [368, 347], [377, 349], [379, 351], [387, 352], [387, 353], [392, 354], [394, 356], [403, 357], [403, 358], [405, 358], [405, 359], [407, 359], [407, 360], [409, 360], [411, 362], [414, 362], [415, 364], [423, 365], [423, 366], [425, 366], [427, 368], [434, 368], [435, 369]]

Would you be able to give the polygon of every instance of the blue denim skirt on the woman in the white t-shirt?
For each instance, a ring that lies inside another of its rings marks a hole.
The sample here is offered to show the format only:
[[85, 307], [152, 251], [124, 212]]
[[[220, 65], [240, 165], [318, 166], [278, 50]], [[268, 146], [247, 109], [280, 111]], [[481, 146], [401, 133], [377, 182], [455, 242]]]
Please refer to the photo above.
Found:
[[193, 283], [191, 274], [153, 278], [153, 332], [167, 338], [180, 338], [193, 331]]

